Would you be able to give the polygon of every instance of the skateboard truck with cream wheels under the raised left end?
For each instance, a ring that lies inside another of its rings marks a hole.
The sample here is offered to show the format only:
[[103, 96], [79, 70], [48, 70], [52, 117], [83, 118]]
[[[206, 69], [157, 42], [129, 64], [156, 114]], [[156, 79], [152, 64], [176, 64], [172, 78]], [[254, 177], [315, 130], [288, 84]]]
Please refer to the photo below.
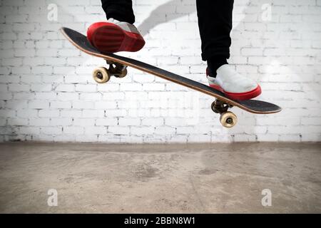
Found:
[[121, 63], [106, 60], [108, 68], [98, 67], [93, 71], [93, 80], [97, 83], [106, 83], [111, 79], [111, 76], [123, 78], [127, 75], [127, 66]]

